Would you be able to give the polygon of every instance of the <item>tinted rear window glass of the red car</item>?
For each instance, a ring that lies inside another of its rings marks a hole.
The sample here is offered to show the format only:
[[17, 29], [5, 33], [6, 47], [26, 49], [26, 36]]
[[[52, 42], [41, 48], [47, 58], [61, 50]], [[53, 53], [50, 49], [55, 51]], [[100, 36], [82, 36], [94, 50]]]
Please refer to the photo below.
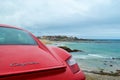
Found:
[[36, 42], [23, 30], [0, 27], [0, 45], [36, 45]]

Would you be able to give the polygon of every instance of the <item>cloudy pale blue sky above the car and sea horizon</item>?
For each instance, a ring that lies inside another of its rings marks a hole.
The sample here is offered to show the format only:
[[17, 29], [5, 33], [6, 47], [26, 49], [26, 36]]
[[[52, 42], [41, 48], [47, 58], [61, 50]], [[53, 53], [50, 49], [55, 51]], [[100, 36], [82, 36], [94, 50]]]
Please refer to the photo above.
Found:
[[0, 24], [36, 36], [120, 39], [120, 0], [0, 0]]

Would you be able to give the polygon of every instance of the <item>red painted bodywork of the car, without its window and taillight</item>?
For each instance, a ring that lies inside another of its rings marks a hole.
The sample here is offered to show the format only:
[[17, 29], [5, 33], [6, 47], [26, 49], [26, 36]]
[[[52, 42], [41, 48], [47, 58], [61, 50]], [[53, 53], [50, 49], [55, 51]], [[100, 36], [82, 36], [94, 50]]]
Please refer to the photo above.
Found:
[[[19, 29], [3, 24], [0, 27]], [[85, 80], [81, 70], [71, 71], [66, 62], [71, 57], [67, 51], [47, 47], [27, 33], [37, 45], [0, 45], [0, 80]]]

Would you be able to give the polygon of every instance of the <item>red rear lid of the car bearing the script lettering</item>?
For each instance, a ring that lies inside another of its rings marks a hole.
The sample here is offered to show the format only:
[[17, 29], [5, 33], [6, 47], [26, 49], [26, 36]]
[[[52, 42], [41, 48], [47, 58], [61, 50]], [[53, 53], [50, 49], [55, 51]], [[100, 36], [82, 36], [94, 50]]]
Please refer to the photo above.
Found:
[[65, 65], [38, 46], [0, 46], [0, 76], [65, 68]]

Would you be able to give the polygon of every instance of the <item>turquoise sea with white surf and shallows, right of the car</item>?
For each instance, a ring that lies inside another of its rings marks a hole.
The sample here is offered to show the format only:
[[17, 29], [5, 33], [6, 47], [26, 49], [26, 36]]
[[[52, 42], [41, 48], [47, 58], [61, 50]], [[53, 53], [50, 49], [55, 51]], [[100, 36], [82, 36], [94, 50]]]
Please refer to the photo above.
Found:
[[64, 45], [82, 50], [71, 54], [84, 70], [106, 72], [120, 70], [120, 40], [65, 42]]

